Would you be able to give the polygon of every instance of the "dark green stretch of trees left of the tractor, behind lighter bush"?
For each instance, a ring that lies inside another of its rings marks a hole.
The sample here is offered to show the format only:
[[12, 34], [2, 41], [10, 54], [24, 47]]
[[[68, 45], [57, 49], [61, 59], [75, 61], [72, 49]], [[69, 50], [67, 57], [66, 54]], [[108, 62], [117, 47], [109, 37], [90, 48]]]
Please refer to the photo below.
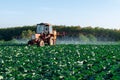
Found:
[[[26, 31], [35, 31], [35, 26], [23, 26], [13, 28], [1, 28], [0, 29], [0, 40], [9, 41], [12, 39], [20, 39], [23, 37], [23, 33]], [[25, 37], [25, 36], [24, 36]]]

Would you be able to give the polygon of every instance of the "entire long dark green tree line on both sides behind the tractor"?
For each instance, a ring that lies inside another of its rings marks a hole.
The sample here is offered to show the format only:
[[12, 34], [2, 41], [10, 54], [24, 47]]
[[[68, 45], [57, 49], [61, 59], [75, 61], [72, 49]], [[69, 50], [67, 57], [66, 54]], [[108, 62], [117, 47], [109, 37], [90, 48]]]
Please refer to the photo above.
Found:
[[[64, 26], [54, 25], [53, 29], [59, 33], [65, 33], [65, 36], [72, 38], [80, 38], [87, 40], [97, 41], [120, 41], [120, 30], [116, 29], [104, 29], [95, 27], [80, 27], [80, 26]], [[14, 28], [1, 28], [0, 29], [0, 40], [9, 41], [12, 39], [30, 38], [36, 31], [36, 26], [23, 26]], [[58, 36], [62, 38], [63, 36]]]

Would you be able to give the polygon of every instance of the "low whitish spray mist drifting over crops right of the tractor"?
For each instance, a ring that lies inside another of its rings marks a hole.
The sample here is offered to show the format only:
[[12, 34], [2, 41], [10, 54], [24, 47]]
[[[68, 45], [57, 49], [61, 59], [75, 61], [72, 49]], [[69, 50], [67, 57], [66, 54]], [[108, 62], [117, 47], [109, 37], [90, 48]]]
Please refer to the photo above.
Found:
[[57, 43], [56, 44], [81, 44], [81, 45], [117, 45], [119, 44], [118, 42], [115, 41], [108, 41], [108, 40], [102, 40], [98, 41], [98, 40], [89, 40], [89, 38], [85, 39], [79, 39], [79, 38], [75, 38], [75, 37], [67, 37], [67, 38], [58, 38], [57, 39]]

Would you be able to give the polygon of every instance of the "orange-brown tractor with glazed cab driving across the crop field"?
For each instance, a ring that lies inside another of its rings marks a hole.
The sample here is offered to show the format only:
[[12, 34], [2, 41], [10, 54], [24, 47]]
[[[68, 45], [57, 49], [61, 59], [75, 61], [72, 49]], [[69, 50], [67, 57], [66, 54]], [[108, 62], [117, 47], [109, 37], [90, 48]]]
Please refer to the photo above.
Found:
[[52, 25], [48, 23], [37, 24], [36, 33], [32, 34], [31, 40], [28, 41], [28, 45], [44, 46], [55, 45], [57, 38], [56, 30], [52, 29]]

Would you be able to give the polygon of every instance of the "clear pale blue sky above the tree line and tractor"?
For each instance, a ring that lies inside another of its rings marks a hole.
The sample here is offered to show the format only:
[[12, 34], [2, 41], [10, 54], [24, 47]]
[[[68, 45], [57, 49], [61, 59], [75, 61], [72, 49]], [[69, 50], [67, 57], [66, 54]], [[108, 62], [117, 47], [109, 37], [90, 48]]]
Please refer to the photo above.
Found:
[[120, 0], [0, 0], [0, 28], [41, 22], [120, 29]]

